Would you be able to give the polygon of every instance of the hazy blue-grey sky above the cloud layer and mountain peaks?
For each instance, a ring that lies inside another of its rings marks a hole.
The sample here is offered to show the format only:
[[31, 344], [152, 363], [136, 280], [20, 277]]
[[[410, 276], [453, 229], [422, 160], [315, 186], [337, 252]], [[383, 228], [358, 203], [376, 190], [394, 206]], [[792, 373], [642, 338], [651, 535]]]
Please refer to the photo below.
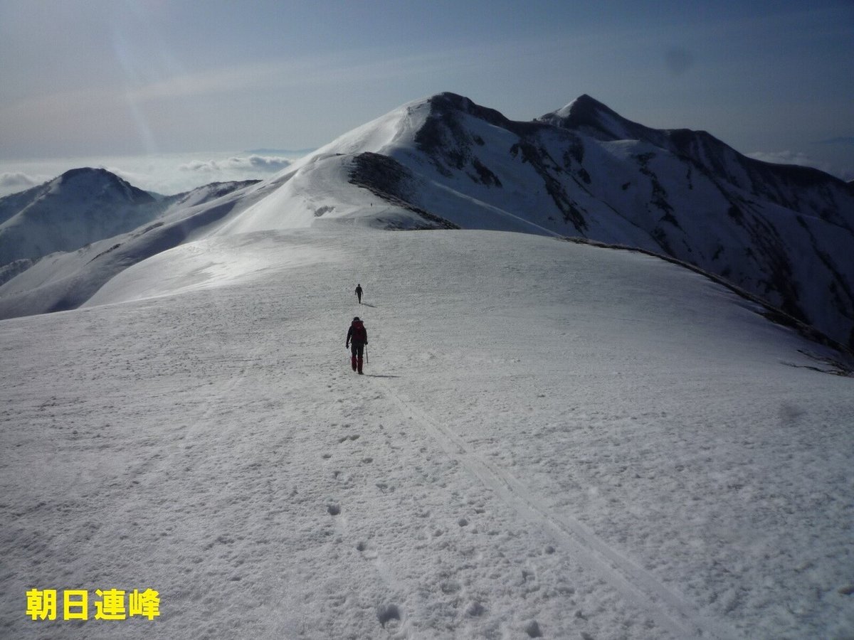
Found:
[[445, 90], [512, 119], [587, 93], [854, 178], [851, 0], [0, 0], [0, 171], [313, 148]]

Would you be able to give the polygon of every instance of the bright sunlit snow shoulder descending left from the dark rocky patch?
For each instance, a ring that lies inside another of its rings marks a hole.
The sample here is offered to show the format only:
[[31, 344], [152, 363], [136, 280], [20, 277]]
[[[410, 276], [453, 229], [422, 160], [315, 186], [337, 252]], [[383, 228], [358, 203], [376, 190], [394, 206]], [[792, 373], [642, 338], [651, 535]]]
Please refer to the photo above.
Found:
[[196, 189], [190, 195], [204, 197], [182, 198], [151, 224], [73, 252], [50, 254], [35, 265], [25, 265], [25, 271], [15, 271], [0, 284], [0, 318], [77, 308], [129, 266], [204, 237], [302, 228], [319, 218], [347, 218], [381, 228], [436, 226], [425, 222], [423, 212], [349, 183], [352, 166], [352, 157], [311, 155], [259, 184], [225, 193]]

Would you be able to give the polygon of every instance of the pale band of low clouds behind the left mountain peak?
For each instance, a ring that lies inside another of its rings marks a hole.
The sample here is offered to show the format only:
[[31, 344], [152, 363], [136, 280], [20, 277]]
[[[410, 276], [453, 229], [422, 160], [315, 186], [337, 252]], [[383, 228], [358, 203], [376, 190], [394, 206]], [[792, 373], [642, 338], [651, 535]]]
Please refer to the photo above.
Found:
[[223, 152], [0, 161], [0, 197], [30, 189], [69, 169], [84, 166], [107, 169], [139, 189], [173, 195], [208, 183], [264, 179], [283, 171], [293, 160], [306, 153], [307, 150], [258, 149], [237, 154]]

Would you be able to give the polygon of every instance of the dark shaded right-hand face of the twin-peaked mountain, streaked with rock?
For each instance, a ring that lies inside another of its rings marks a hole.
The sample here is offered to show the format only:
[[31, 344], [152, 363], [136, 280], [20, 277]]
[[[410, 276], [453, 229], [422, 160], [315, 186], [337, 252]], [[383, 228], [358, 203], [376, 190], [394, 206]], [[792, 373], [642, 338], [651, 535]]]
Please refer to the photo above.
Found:
[[854, 346], [849, 184], [752, 160], [705, 131], [650, 129], [589, 96], [533, 122], [453, 94], [427, 104], [415, 153], [401, 143], [388, 152], [412, 172], [410, 204], [480, 226], [456, 207], [442, 210], [431, 193], [441, 185], [471, 209], [663, 253]]

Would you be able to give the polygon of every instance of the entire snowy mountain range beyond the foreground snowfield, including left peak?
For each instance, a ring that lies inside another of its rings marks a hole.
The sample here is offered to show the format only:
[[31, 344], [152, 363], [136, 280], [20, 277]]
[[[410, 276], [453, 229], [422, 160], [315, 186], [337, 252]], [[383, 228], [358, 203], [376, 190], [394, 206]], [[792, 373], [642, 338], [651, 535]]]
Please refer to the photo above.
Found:
[[[103, 278], [196, 237], [346, 220], [637, 247], [716, 274], [854, 347], [851, 183], [752, 160], [705, 131], [651, 129], [589, 96], [519, 122], [439, 94], [262, 183], [196, 199], [158, 198], [96, 171], [0, 199], [0, 263], [69, 252], [25, 271], [7, 265], [15, 275], [0, 287], [0, 317], [72, 308]], [[78, 183], [85, 176], [91, 183]]]

